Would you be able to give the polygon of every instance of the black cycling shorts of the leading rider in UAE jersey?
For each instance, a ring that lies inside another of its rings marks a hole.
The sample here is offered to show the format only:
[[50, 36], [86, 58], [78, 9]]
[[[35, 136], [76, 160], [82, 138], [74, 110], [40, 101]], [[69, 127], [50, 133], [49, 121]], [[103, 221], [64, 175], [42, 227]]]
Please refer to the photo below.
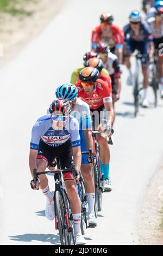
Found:
[[[71, 164], [73, 164], [71, 141], [68, 140], [59, 147], [52, 147], [40, 140], [37, 159], [45, 160], [46, 166], [48, 167], [50, 164], [52, 164], [53, 159], [56, 157], [59, 159], [61, 169], [71, 168]], [[65, 173], [64, 180], [73, 180], [72, 172]]]

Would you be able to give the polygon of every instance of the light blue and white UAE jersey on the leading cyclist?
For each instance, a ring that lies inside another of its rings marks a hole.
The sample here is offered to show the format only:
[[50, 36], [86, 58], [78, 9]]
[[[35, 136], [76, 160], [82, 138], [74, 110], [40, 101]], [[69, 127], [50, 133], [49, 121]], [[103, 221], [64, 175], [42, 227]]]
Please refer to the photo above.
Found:
[[72, 147], [80, 146], [79, 124], [76, 118], [70, 116], [62, 130], [55, 130], [52, 127], [51, 115], [45, 115], [33, 126], [30, 148], [39, 150], [40, 140], [49, 146], [59, 147], [70, 139]]

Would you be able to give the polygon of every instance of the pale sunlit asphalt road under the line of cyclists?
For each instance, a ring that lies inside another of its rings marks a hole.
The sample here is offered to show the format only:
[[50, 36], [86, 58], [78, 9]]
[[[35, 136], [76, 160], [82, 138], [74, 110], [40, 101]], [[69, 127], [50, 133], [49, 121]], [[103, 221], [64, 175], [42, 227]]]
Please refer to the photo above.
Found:
[[[109, 10], [124, 26], [139, 1], [68, 0], [65, 7], [35, 40], [0, 69], [1, 180], [0, 244], [58, 245], [54, 223], [45, 217], [45, 198], [30, 189], [28, 168], [30, 133], [54, 98], [55, 87], [70, 81], [72, 70], [90, 50], [91, 30], [99, 14]], [[163, 101], [133, 117], [132, 87], [123, 86], [116, 104], [114, 145], [111, 147], [111, 180], [105, 193], [96, 229], [86, 231], [87, 245], [139, 244], [137, 218], [142, 199], [163, 156]], [[51, 188], [53, 179], [49, 177]]]

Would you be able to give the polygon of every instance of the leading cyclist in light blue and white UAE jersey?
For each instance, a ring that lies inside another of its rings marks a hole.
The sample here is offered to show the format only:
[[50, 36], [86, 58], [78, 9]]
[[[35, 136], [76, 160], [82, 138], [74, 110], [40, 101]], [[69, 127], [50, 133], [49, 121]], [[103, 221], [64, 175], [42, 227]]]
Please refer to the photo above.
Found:
[[[49, 108], [51, 115], [39, 118], [34, 124], [29, 154], [29, 167], [32, 175], [33, 169], [37, 169], [39, 172], [45, 171], [53, 162], [54, 157], [59, 158], [61, 168], [71, 168], [74, 158], [74, 165], [79, 173], [81, 164], [79, 125], [76, 118], [70, 116], [70, 111], [70, 104], [64, 100], [54, 100]], [[48, 179], [46, 175], [41, 175], [39, 179], [36, 184], [32, 180], [30, 185], [33, 189], [40, 188], [46, 196], [46, 217], [53, 220], [54, 201], [48, 186]], [[85, 240], [80, 230], [81, 203], [76, 183], [71, 172], [64, 174], [64, 180], [71, 202], [76, 244], [83, 245]]]

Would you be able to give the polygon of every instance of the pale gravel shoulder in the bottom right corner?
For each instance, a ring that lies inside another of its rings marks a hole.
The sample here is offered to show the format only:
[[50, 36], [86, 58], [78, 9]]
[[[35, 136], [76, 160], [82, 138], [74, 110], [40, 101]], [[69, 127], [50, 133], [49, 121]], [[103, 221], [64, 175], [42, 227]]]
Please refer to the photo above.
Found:
[[148, 186], [140, 212], [140, 245], [163, 245], [163, 162]]

